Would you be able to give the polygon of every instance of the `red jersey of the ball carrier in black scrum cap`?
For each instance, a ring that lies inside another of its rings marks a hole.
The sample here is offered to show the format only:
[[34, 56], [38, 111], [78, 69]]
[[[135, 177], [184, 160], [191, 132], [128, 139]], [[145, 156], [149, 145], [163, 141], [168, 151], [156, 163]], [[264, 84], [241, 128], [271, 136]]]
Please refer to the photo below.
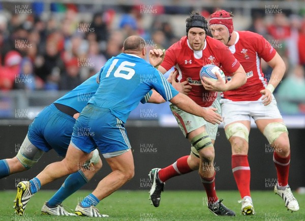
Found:
[[188, 96], [198, 105], [208, 107], [216, 99], [217, 92], [207, 91], [201, 84], [199, 72], [202, 66], [207, 64], [220, 67], [225, 73], [230, 73], [230, 76], [240, 65], [228, 47], [220, 41], [206, 36], [204, 48], [194, 51], [187, 36], [184, 36], [166, 50], [161, 66], [166, 70], [175, 66], [181, 75], [180, 81], [188, 80], [192, 86]]

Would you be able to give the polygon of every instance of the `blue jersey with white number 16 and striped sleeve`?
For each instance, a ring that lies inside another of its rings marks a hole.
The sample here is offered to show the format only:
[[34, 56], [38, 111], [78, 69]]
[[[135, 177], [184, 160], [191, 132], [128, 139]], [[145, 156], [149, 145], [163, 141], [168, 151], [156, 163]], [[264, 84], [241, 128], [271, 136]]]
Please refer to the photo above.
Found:
[[88, 103], [109, 108], [123, 122], [151, 89], [166, 101], [178, 94], [160, 71], [133, 54], [121, 53], [108, 60], [99, 79], [99, 88]]

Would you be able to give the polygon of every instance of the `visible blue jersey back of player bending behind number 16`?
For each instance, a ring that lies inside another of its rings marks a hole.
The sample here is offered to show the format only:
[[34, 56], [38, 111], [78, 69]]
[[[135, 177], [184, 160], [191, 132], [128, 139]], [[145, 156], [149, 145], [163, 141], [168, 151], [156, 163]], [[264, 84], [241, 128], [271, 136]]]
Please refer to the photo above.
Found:
[[63, 97], [54, 101], [54, 103], [64, 104], [70, 106], [77, 112], [81, 113], [82, 109], [87, 105], [89, 99], [98, 90], [97, 76], [99, 73], [85, 80], [81, 85], [69, 91]]

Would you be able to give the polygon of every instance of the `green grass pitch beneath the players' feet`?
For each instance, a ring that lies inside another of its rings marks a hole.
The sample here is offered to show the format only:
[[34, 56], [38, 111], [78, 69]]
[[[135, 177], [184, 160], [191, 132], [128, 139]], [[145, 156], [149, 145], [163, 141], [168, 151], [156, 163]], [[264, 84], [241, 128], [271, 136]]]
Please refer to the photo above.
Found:
[[[63, 205], [75, 209], [78, 201], [81, 201], [90, 191], [80, 190], [64, 201]], [[53, 190], [41, 190], [29, 201], [24, 216], [15, 216], [13, 200], [16, 191], [0, 191], [0, 220], [97, 220], [92, 217], [55, 217], [41, 215], [40, 209], [43, 203], [52, 195]], [[212, 214], [206, 207], [205, 191], [170, 191], [162, 194], [160, 206], [155, 208], [148, 200], [148, 190], [129, 191], [119, 190], [108, 198], [102, 200], [97, 206], [101, 213], [110, 215], [106, 220], [305, 220], [305, 195], [294, 192], [300, 209], [291, 213], [287, 211], [283, 200], [276, 196], [272, 190], [252, 191], [252, 198], [256, 214], [243, 216], [240, 214], [239, 194], [237, 191], [220, 191], [218, 197], [224, 199], [224, 204], [236, 212], [236, 217], [220, 217]], [[101, 218], [98, 218], [99, 220]]]

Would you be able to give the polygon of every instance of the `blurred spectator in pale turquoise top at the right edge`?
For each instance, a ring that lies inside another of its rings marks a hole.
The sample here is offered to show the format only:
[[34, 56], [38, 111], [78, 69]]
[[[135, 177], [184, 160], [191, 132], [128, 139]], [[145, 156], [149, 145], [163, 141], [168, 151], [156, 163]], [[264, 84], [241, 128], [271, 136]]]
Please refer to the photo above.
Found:
[[301, 65], [295, 66], [277, 92], [279, 108], [283, 114], [305, 114], [305, 75]]

